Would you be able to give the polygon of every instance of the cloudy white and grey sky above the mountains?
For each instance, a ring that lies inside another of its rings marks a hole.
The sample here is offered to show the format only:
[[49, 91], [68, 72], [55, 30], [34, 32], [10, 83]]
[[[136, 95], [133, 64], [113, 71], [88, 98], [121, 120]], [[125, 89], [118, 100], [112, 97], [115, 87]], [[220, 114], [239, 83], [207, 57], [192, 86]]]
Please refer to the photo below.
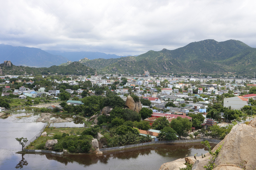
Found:
[[1, 1], [0, 44], [140, 55], [191, 42], [256, 47], [255, 0]]

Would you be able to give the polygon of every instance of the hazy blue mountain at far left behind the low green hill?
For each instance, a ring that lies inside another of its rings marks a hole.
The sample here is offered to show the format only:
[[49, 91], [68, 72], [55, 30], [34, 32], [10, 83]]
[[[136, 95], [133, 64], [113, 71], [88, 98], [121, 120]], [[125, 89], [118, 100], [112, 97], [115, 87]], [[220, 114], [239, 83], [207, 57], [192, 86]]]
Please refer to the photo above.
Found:
[[50, 67], [66, 63], [67, 58], [60, 55], [52, 55], [39, 48], [13, 47], [0, 44], [0, 59], [10, 60], [14, 65], [29, 67]]

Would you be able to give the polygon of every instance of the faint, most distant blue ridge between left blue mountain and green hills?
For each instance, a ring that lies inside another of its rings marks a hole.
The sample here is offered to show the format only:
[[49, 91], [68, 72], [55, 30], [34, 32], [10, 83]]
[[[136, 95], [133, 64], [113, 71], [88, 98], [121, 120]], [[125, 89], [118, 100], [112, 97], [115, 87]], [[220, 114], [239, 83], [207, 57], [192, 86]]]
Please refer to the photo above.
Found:
[[96, 58], [110, 59], [110, 58], [120, 58], [120, 57], [130, 56], [130, 55], [106, 54], [106, 53], [92, 52], [92, 51], [80, 51], [80, 52], [67, 52], [67, 51], [54, 51], [54, 50], [46, 50], [46, 51], [54, 55], [64, 56], [71, 61], [78, 61], [85, 57], [90, 60], [93, 60]]

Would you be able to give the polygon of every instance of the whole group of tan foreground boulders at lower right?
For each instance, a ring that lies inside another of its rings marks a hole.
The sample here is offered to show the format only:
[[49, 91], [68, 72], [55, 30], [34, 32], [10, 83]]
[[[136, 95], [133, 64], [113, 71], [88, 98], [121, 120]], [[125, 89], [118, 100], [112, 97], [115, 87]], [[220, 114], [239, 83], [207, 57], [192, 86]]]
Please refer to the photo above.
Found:
[[[223, 145], [222, 145], [223, 144]], [[254, 118], [248, 125], [237, 124], [230, 133], [213, 149], [215, 152], [218, 147], [222, 145], [221, 150], [215, 159], [215, 166], [213, 170], [253, 170], [256, 168], [256, 156], [254, 149], [256, 148], [256, 118]], [[205, 157], [187, 157], [177, 159], [172, 162], [163, 164], [159, 170], [178, 170], [186, 167], [185, 163], [195, 162], [192, 170], [205, 170], [211, 155], [206, 153]], [[185, 160], [186, 159], [186, 160]]]

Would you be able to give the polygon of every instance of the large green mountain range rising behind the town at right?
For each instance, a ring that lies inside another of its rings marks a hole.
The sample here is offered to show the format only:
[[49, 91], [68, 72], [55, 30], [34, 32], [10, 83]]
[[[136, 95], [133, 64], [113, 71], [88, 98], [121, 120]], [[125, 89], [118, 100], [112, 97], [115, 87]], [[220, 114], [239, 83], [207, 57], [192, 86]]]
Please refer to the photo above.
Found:
[[256, 48], [237, 40], [192, 42], [174, 50], [148, 51], [138, 56], [116, 59], [80, 60], [86, 66], [109, 73], [202, 73], [236, 72], [256, 69]]

